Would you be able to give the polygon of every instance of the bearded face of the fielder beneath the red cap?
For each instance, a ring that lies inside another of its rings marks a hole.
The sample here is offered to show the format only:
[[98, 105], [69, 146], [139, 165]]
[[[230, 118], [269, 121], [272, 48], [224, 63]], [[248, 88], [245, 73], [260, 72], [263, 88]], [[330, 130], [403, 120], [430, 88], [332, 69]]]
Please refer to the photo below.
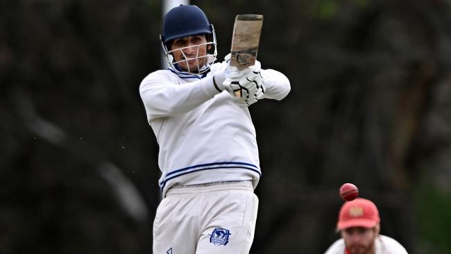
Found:
[[373, 254], [377, 235], [379, 235], [377, 227], [352, 227], [341, 230], [341, 237], [351, 254]]

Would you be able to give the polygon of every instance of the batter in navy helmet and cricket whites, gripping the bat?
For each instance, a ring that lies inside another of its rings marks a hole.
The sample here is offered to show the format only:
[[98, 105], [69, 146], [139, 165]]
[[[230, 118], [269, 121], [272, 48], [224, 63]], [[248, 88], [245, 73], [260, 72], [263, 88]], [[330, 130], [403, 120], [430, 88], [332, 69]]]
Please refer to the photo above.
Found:
[[[170, 10], [160, 38], [169, 68], [139, 87], [160, 146], [153, 253], [248, 253], [261, 176], [248, 106], [283, 99], [289, 80], [259, 62], [246, 69], [214, 63], [214, 28], [196, 6]], [[237, 86], [246, 96], [235, 96]]]

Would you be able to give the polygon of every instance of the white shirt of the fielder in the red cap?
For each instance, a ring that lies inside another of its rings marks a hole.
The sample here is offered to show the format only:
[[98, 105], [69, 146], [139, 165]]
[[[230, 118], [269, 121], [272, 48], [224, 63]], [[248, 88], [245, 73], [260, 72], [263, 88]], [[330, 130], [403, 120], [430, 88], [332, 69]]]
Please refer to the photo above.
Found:
[[[325, 254], [345, 254], [345, 248], [345, 241], [341, 238], [334, 242]], [[375, 240], [375, 254], [407, 254], [407, 251], [395, 239], [379, 235]]]

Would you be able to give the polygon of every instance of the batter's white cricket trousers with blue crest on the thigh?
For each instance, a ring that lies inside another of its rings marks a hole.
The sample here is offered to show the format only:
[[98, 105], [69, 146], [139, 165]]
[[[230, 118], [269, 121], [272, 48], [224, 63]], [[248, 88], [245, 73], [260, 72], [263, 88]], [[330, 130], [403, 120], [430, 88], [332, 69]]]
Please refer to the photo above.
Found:
[[155, 214], [153, 254], [248, 254], [257, 209], [251, 181], [171, 187]]

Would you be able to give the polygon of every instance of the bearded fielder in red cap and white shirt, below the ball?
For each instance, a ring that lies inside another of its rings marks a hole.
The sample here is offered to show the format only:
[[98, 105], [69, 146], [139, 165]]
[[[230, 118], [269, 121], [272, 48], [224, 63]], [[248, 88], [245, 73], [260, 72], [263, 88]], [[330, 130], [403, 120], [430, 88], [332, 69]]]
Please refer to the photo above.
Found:
[[345, 202], [339, 212], [337, 230], [341, 239], [325, 254], [407, 254], [395, 239], [379, 234], [379, 211], [368, 199]]

